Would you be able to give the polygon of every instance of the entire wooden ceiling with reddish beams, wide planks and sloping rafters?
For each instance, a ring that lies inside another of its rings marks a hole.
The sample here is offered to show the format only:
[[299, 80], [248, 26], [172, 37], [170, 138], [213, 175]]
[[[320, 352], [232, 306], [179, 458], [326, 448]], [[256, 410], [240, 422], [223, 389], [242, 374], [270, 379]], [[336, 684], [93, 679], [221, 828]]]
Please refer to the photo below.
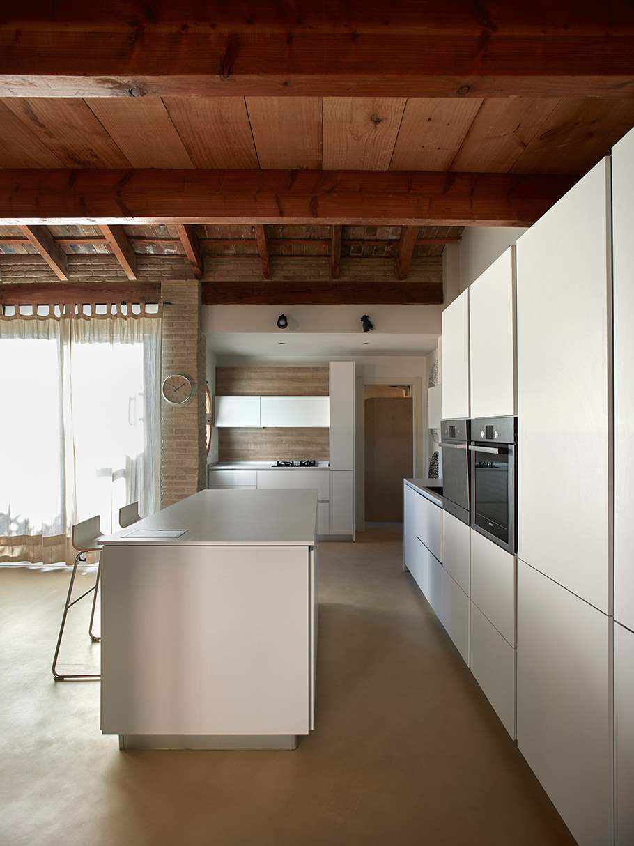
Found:
[[33, 0], [0, 21], [0, 283], [437, 302], [463, 226], [529, 225], [633, 125], [626, 0]]

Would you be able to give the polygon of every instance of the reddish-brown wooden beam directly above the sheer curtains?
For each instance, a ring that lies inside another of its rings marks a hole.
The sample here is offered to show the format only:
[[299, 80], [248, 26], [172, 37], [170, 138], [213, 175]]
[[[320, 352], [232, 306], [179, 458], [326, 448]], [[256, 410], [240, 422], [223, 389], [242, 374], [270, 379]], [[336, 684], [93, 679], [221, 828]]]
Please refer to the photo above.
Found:
[[0, 285], [0, 305], [64, 305], [66, 303], [158, 303], [161, 283], [12, 283]]

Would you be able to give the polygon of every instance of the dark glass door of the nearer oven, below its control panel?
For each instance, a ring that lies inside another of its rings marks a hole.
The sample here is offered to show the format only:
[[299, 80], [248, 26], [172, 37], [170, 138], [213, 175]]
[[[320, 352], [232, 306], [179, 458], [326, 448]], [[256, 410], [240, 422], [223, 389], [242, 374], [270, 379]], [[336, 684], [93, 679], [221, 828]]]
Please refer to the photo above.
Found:
[[471, 525], [506, 552], [516, 552], [515, 446], [472, 443]]

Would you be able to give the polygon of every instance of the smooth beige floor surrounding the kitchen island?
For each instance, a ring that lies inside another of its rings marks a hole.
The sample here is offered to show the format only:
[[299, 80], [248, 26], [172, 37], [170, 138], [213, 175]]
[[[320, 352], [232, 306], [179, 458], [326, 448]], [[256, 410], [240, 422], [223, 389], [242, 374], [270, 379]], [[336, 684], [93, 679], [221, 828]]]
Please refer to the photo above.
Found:
[[[400, 537], [358, 537], [321, 546], [316, 729], [294, 752], [120, 752], [99, 683], [52, 680], [68, 574], [0, 569], [0, 843], [574, 843]], [[90, 604], [73, 612], [63, 667], [97, 665]]]

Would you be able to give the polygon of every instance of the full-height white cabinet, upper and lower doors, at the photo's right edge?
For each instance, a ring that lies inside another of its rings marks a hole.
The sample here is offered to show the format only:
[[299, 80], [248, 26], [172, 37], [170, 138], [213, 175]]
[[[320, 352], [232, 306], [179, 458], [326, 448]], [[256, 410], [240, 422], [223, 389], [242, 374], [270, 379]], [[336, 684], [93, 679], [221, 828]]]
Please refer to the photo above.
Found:
[[634, 131], [612, 151], [615, 843], [634, 843]]

